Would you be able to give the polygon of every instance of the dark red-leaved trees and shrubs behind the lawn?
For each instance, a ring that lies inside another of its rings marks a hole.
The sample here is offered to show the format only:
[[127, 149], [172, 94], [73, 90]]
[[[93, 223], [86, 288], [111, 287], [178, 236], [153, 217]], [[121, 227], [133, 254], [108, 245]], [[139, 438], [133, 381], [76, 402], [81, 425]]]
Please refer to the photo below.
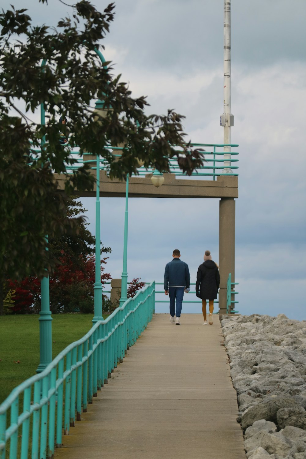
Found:
[[[80, 201], [71, 198], [67, 209], [69, 218], [86, 209]], [[95, 284], [95, 238], [87, 229], [87, 223], [78, 221], [78, 236], [64, 235], [50, 240], [49, 250], [57, 260], [56, 268], [50, 275], [50, 310], [53, 314], [79, 311], [90, 313], [94, 310]], [[110, 253], [110, 247], [101, 247], [102, 253]], [[101, 281], [110, 280], [105, 273], [108, 257], [101, 259]], [[29, 276], [22, 281], [8, 280], [7, 288], [15, 291], [10, 312], [16, 314], [39, 313], [40, 280]], [[7, 295], [7, 293], [6, 293]]]

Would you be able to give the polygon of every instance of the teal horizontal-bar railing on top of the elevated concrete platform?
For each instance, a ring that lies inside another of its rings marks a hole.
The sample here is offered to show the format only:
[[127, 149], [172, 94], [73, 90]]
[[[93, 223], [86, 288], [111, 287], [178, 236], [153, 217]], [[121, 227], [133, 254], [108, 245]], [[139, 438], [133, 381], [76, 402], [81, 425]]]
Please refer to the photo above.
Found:
[[[69, 145], [67, 145], [69, 146]], [[219, 175], [227, 175], [227, 176], [238, 176], [238, 165], [235, 165], [239, 160], [236, 158], [239, 153], [237, 151], [230, 151], [231, 155], [231, 160], [230, 160], [230, 168], [232, 169], [232, 173], [230, 174], [224, 174], [223, 169], [224, 169], [224, 151], [219, 151], [220, 149], [224, 148], [224, 146], [230, 146], [232, 148], [238, 147], [239, 145], [237, 144], [200, 144], [200, 143], [192, 143], [190, 144], [191, 148], [204, 148], [206, 151], [203, 151], [203, 154], [205, 156], [205, 162], [203, 163], [203, 166], [200, 168], [197, 168], [191, 176], [197, 176], [197, 177], [212, 177], [213, 180], [216, 179], [217, 176]], [[120, 157], [120, 151], [122, 148], [120, 147], [105, 147], [105, 150], [111, 151], [114, 157]], [[39, 149], [33, 149], [32, 150], [35, 154], [40, 153]], [[177, 148], [178, 154], [180, 152], [179, 148]], [[225, 152], [228, 154], [229, 152]], [[73, 170], [78, 169], [81, 167], [84, 163], [92, 163], [92, 169], [96, 170], [96, 159], [91, 160], [91, 159], [86, 159], [87, 156], [92, 155], [92, 153], [83, 153], [83, 157], [80, 157], [79, 151], [74, 151], [72, 150], [70, 152], [71, 158], [75, 160], [74, 164], [66, 164], [67, 167], [67, 172], [72, 172]], [[228, 159], [226, 160], [228, 162]], [[187, 176], [186, 173], [183, 173], [181, 169], [178, 166], [178, 161], [175, 158], [169, 158], [169, 168], [170, 168], [170, 173], [175, 174], [176, 176]], [[227, 165], [227, 168], [229, 166]], [[103, 158], [103, 152], [101, 152], [101, 157], [100, 157], [100, 170], [105, 170], [106, 173], [108, 173], [110, 169], [109, 163]], [[144, 176], [146, 174], [152, 174], [154, 172], [153, 168], [145, 168], [144, 166], [140, 166], [137, 168], [137, 176]], [[189, 176], [187, 176], [189, 177]]]

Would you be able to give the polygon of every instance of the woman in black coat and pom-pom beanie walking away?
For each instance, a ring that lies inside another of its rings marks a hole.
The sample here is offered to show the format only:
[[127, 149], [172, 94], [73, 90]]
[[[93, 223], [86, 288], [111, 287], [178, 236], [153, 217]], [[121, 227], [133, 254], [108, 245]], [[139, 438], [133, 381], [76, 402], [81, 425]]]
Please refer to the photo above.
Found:
[[204, 263], [200, 264], [197, 275], [195, 292], [198, 298], [202, 299], [202, 313], [204, 317], [203, 325], [206, 321], [206, 300], [209, 301], [208, 323], [213, 324], [212, 313], [214, 310], [214, 300], [217, 298], [217, 292], [220, 285], [220, 274], [217, 263], [211, 260], [211, 252], [205, 251]]

